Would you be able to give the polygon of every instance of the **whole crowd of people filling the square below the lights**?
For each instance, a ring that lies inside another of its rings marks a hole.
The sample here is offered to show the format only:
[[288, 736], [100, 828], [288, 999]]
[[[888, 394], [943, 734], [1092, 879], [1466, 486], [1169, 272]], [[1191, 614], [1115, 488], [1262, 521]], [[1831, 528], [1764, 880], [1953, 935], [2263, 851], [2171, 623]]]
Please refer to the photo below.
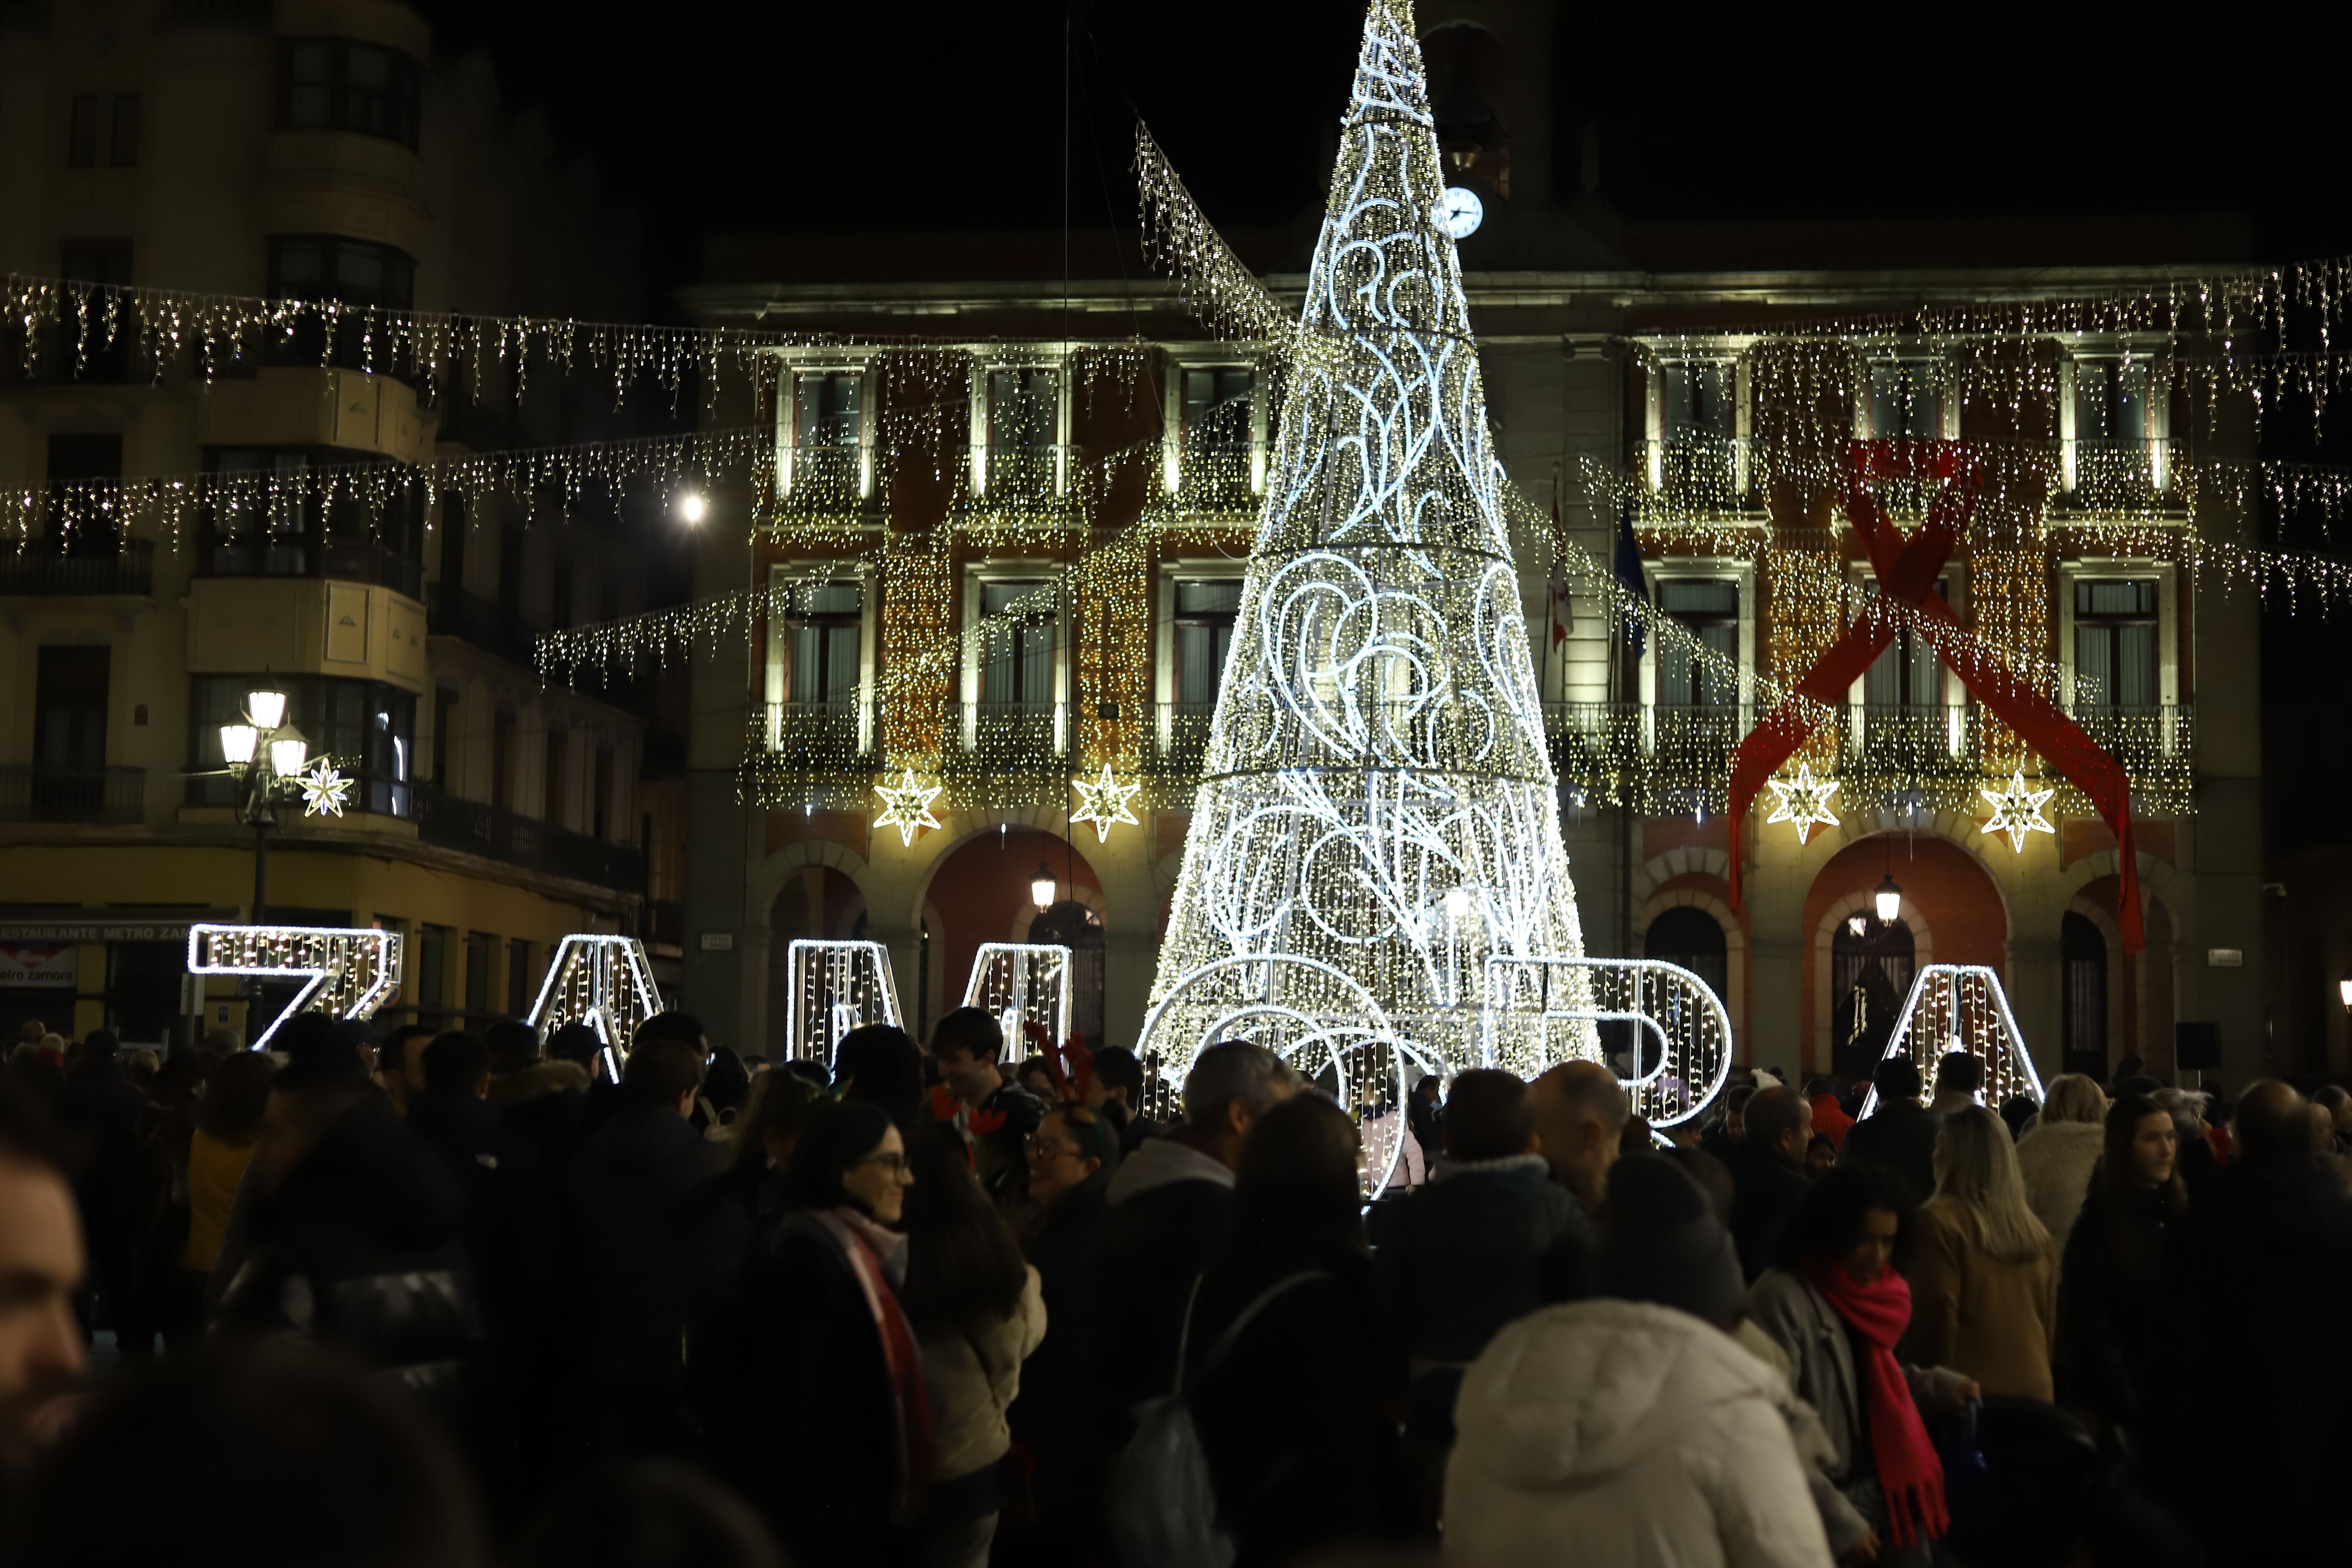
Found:
[[[287, 1018], [0, 1084], [28, 1563], [2343, 1561], [2352, 1095], [1616, 1077], [1364, 1128], [962, 1009], [830, 1070]], [[1872, 1098], [1875, 1091], [1875, 1098]], [[1865, 1098], [1872, 1098], [1870, 1114]], [[1679, 1133], [1682, 1128], [1677, 1128]], [[2305, 1375], [2296, 1375], [2305, 1373]]]

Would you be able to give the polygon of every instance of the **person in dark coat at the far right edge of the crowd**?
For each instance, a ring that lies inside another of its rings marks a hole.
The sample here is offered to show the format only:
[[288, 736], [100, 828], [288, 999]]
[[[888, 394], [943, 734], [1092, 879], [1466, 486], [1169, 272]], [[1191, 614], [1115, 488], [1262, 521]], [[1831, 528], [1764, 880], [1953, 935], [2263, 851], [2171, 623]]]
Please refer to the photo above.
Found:
[[2312, 1143], [2300, 1093], [2249, 1086], [2237, 1159], [2192, 1199], [2166, 1258], [2157, 1474], [2218, 1568], [2343, 1559], [2333, 1488], [2352, 1472], [2352, 1408], [2281, 1375], [2331, 1366], [2352, 1340], [2352, 1204]]

